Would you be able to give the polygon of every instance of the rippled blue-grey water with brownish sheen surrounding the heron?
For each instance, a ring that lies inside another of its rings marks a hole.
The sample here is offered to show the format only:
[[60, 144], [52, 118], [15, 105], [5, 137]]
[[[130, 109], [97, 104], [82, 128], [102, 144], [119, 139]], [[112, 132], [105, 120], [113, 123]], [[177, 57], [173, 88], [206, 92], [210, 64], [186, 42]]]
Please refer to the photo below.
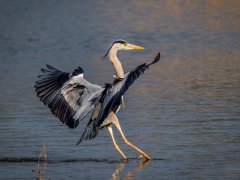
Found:
[[[155, 160], [143, 162], [115, 131], [76, 146], [70, 130], [36, 97], [45, 64], [81, 66], [103, 85], [114, 73], [99, 58], [122, 38], [125, 71], [161, 62], [130, 88], [119, 112], [126, 136]], [[46, 179], [239, 179], [239, 1], [0, 1], [0, 179], [31, 179], [47, 147]]]

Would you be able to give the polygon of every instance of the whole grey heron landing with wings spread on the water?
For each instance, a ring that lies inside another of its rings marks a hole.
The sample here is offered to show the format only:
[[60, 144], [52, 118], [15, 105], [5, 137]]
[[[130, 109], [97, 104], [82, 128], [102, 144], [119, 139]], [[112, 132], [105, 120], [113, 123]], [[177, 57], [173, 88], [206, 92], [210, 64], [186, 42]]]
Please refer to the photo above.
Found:
[[83, 76], [84, 71], [81, 67], [78, 67], [72, 73], [67, 73], [50, 65], [46, 65], [46, 69], [41, 69], [43, 75], [38, 76], [39, 80], [36, 81], [34, 87], [40, 100], [51, 109], [52, 114], [69, 128], [76, 128], [79, 121], [91, 113], [90, 120], [77, 144], [83, 140], [95, 138], [99, 130], [106, 127], [114, 147], [124, 159], [127, 159], [115, 141], [112, 130], [112, 125], [115, 125], [127, 145], [138, 151], [141, 154], [140, 156], [152, 159], [125, 137], [116, 115], [119, 108], [123, 106], [123, 94], [145, 70], [160, 59], [160, 53], [158, 53], [151, 63], [141, 64], [124, 74], [117, 52], [132, 49], [141, 50], [144, 48], [124, 40], [117, 40], [112, 43], [103, 59], [109, 57], [116, 74], [114, 75], [114, 81], [105, 84], [103, 87], [87, 81]]

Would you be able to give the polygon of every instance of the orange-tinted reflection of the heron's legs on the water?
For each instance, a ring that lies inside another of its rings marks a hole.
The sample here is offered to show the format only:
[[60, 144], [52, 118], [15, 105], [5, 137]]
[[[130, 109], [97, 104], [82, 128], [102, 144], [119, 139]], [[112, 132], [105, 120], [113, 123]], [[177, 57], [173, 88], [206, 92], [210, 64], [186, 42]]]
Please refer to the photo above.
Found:
[[145, 159], [144, 161], [137, 160], [136, 167], [133, 169], [128, 170], [124, 175], [121, 174], [121, 171], [125, 168], [125, 166], [128, 164], [126, 162], [120, 162], [117, 167], [114, 169], [112, 173], [112, 179], [113, 180], [119, 180], [121, 179], [120, 176], [123, 176], [123, 179], [133, 179], [134, 175], [141, 172], [144, 168], [146, 168], [151, 160]]

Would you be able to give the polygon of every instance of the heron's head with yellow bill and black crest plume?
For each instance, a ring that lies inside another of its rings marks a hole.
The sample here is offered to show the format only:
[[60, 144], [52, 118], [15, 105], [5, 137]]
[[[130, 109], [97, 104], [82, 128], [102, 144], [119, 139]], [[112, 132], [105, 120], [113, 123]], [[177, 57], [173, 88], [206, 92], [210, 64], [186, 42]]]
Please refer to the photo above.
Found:
[[143, 50], [144, 47], [130, 44], [129, 42], [127, 42], [125, 40], [119, 39], [119, 40], [114, 41], [111, 44], [110, 48], [108, 49], [107, 53], [102, 57], [102, 59], [105, 59], [110, 52], [117, 53], [117, 51], [119, 51], [119, 50], [133, 50], [133, 49]]

